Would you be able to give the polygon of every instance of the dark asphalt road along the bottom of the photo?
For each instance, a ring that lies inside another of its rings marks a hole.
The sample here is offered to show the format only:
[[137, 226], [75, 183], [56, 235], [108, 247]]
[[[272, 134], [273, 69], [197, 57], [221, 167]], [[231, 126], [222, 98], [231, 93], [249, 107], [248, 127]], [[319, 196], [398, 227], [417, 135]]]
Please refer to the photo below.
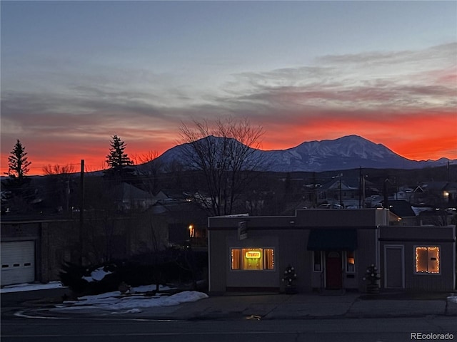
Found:
[[18, 318], [1, 321], [2, 342], [413, 341], [411, 333], [453, 333], [456, 317], [149, 321], [127, 318]]

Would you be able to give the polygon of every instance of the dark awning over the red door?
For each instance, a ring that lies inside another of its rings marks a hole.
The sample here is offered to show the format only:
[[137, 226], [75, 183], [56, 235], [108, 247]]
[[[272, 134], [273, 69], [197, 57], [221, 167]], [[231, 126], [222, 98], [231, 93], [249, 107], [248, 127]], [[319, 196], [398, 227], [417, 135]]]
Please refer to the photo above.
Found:
[[311, 229], [308, 251], [355, 251], [356, 229]]

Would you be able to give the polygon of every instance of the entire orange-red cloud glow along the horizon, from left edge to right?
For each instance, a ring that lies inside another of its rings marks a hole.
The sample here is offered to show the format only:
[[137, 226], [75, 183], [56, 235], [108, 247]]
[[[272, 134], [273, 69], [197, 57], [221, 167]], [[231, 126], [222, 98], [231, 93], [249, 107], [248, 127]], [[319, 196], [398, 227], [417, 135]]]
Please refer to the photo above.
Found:
[[[457, 115], [453, 113], [408, 113], [389, 115], [380, 120], [372, 113], [366, 117], [303, 118], [283, 122], [263, 122], [266, 134], [262, 138], [263, 150], [282, 150], [295, 147], [301, 142], [328, 140], [344, 135], [361, 135], [375, 143], [381, 143], [393, 152], [413, 160], [436, 160], [440, 157], [457, 159]], [[256, 124], [255, 122], [252, 122]], [[162, 131], [160, 139], [141, 136], [141, 130], [120, 135], [126, 142], [130, 157], [156, 151], [159, 155], [177, 145], [177, 129]], [[41, 175], [46, 165], [74, 165], [79, 171], [84, 159], [86, 171], [102, 170], [109, 153], [109, 137], [103, 140], [74, 142], [71, 140], [38, 141], [33, 145], [21, 140], [32, 162], [29, 175]], [[11, 150], [13, 145], [11, 145]], [[8, 154], [2, 153], [1, 172], [7, 171]]]

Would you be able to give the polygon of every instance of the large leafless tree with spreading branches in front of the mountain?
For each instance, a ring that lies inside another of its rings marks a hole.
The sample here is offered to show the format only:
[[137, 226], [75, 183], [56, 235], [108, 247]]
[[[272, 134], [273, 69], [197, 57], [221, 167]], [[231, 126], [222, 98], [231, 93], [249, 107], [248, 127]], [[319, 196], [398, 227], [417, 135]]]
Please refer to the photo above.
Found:
[[203, 175], [206, 189], [199, 200], [211, 214], [232, 214], [254, 172], [264, 170], [265, 160], [257, 150], [263, 133], [247, 118], [194, 120], [191, 127], [181, 123], [182, 161]]

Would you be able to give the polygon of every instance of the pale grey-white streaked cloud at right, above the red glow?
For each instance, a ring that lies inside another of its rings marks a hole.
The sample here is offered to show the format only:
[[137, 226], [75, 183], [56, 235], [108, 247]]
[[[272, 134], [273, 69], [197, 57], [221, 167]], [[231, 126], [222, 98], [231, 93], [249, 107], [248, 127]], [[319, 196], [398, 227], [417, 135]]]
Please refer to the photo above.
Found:
[[219, 101], [231, 108], [251, 103], [271, 110], [454, 108], [456, 56], [457, 43], [425, 51], [324, 56], [318, 64], [325, 66], [238, 74], [227, 85], [227, 98]]

